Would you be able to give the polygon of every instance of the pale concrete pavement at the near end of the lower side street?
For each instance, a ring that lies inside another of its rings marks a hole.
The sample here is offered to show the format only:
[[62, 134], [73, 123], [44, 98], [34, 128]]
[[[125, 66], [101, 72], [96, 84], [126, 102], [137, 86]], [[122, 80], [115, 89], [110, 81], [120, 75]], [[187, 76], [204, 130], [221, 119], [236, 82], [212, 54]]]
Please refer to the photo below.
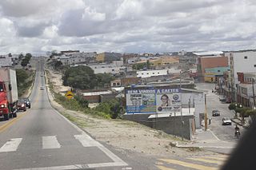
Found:
[[207, 129], [206, 131], [202, 129], [197, 129], [192, 139], [192, 142], [190, 143], [176, 143], [176, 146], [178, 148], [214, 148], [217, 149], [217, 152], [222, 153], [230, 153], [235, 145], [236, 143], [234, 142], [228, 142], [218, 139], [218, 137], [215, 136], [214, 133], [210, 131], [210, 129]]

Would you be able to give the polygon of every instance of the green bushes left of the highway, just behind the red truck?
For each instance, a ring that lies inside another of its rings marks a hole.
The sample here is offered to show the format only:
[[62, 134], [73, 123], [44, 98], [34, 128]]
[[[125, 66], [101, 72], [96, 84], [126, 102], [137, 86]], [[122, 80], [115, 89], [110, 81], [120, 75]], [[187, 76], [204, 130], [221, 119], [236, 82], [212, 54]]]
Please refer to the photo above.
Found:
[[16, 69], [18, 97], [22, 97], [33, 84], [35, 73], [26, 69]]

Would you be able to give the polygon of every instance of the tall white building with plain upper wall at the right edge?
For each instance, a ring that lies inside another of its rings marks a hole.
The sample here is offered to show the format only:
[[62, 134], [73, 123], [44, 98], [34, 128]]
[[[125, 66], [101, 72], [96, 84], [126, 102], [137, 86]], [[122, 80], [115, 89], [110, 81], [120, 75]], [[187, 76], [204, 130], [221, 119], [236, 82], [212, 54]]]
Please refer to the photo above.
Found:
[[237, 101], [238, 73], [256, 73], [256, 51], [243, 50], [224, 53], [230, 61], [232, 100]]

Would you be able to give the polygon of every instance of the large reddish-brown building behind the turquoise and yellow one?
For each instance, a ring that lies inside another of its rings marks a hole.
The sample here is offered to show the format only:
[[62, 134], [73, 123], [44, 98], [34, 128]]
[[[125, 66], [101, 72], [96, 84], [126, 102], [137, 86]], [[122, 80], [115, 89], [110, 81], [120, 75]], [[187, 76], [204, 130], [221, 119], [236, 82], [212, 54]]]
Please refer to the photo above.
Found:
[[216, 57], [198, 57], [197, 69], [198, 69], [198, 81], [205, 81], [206, 69], [213, 69], [217, 67], [228, 67], [228, 57], [216, 56]]

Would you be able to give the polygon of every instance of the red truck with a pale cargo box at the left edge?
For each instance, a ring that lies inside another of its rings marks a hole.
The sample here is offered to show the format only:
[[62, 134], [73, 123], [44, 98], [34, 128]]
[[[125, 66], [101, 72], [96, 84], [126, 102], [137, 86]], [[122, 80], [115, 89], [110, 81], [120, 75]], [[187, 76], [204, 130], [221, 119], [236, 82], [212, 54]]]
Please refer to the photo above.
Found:
[[0, 117], [6, 121], [17, 117], [18, 89], [16, 71], [0, 68]]

